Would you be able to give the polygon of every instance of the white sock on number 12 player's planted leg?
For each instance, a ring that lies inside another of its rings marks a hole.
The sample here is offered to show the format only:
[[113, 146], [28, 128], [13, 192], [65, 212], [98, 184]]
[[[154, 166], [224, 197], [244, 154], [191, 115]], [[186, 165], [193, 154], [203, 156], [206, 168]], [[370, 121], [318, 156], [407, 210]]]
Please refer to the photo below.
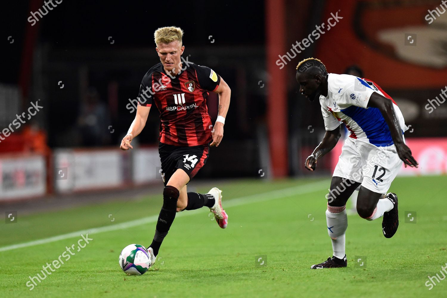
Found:
[[345, 232], [348, 227], [348, 217], [346, 215], [346, 205], [333, 207], [328, 205], [326, 210], [326, 222], [328, 224], [328, 234], [332, 240], [333, 255], [339, 259], [345, 257]]

